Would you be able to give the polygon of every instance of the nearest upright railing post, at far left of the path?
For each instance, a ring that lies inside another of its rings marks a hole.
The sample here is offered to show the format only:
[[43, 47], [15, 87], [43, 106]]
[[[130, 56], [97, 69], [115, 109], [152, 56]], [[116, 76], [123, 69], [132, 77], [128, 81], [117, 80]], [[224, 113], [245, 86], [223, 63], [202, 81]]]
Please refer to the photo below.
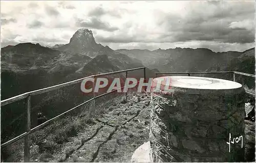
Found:
[[[26, 131], [30, 133], [30, 111], [31, 111], [31, 97], [28, 96], [26, 98], [26, 108], [27, 108], [27, 111], [26, 111], [26, 119], [27, 119], [27, 128], [26, 128]], [[25, 142], [24, 142], [24, 162], [29, 162], [29, 159], [30, 159], [30, 134], [26, 135], [25, 136]]]

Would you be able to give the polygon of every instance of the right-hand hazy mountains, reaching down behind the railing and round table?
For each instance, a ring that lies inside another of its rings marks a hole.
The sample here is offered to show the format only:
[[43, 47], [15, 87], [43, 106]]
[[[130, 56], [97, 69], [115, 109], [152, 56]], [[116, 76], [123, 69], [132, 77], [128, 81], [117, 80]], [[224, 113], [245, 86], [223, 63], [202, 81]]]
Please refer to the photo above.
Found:
[[[255, 74], [255, 48], [244, 52], [212, 52], [209, 49], [175, 48], [167, 50], [116, 50], [153, 68], [155, 72], [213, 72], [238, 71]], [[200, 74], [197, 74], [200, 75]], [[200, 75], [233, 80], [231, 74]], [[236, 75], [236, 81], [249, 88], [255, 87], [254, 78]]]

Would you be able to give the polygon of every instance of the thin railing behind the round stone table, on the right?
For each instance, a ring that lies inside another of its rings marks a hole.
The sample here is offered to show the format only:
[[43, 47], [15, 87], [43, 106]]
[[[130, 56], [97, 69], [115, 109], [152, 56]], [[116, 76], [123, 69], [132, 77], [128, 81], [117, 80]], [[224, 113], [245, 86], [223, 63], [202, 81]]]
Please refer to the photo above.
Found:
[[[156, 77], [157, 75], [160, 74], [187, 74], [187, 76], [190, 76], [190, 74], [226, 74], [226, 73], [230, 73], [233, 74], [233, 81], [236, 82], [236, 74], [238, 75], [244, 75], [244, 76], [248, 76], [248, 77], [254, 77], [255, 75], [253, 74], [247, 74], [247, 73], [241, 73], [241, 72], [236, 72], [236, 71], [232, 71], [232, 72], [186, 72], [186, 73], [156, 73]], [[253, 94], [252, 92], [249, 91], [245, 91], [246, 94], [255, 97], [255, 94]]]

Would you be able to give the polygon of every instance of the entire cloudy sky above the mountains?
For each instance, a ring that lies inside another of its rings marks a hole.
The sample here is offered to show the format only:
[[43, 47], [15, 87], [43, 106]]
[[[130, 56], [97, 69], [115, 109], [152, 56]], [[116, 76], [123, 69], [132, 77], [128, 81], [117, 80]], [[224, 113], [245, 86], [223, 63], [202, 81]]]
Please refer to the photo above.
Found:
[[69, 43], [76, 30], [116, 49], [253, 48], [255, 2], [1, 1], [1, 46]]

